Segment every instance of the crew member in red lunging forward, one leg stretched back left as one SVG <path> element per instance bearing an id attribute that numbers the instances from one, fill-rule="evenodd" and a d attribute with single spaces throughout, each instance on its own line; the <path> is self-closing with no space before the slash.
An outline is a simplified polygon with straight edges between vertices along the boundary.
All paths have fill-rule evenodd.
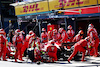
<path id="1" fill-rule="evenodd" d="M 73 53 L 70 55 L 70 57 L 68 58 L 68 62 L 70 63 L 70 60 L 77 54 L 77 52 L 82 52 L 82 59 L 81 61 L 85 61 L 85 52 L 86 52 L 86 48 L 88 49 L 88 43 L 89 43 L 89 37 L 86 37 L 85 39 L 82 39 L 80 41 L 78 41 L 77 43 L 75 43 L 74 45 L 74 50 Z"/>

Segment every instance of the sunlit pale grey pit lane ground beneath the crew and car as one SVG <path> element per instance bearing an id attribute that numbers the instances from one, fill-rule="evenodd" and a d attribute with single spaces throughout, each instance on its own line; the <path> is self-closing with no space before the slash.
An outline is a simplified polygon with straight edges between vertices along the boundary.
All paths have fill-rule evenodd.
<path id="1" fill-rule="evenodd" d="M 74 61 L 71 63 L 67 61 L 56 61 L 55 63 L 31 63 L 26 57 L 23 57 L 25 61 L 18 60 L 18 63 L 14 62 L 14 59 L 7 59 L 8 61 L 0 61 L 0 67 L 100 67 L 100 57 L 85 57 L 85 62 Z"/>

